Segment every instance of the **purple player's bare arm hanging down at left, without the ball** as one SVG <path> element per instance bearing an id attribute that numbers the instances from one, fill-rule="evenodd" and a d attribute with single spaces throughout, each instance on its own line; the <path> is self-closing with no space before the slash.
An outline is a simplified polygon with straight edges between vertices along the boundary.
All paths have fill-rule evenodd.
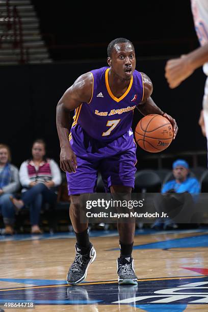
<path id="1" fill-rule="evenodd" d="M 71 124 L 70 111 L 79 107 L 82 102 L 90 101 L 92 87 L 92 74 L 89 72 L 83 74 L 66 90 L 57 105 L 56 123 L 61 147 L 60 167 L 65 172 L 75 172 L 77 167 L 76 155 L 68 139 Z"/>

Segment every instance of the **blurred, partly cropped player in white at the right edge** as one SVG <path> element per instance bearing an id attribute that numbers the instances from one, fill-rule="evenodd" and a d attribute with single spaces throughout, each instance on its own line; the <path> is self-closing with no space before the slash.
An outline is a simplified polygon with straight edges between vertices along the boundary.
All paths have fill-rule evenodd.
<path id="1" fill-rule="evenodd" d="M 202 65 L 204 73 L 208 75 L 208 0 L 191 0 L 191 8 L 201 47 L 167 62 L 165 76 L 171 89 L 179 86 L 195 69 Z M 208 144 L 208 79 L 206 79 L 204 88 L 203 118 Z"/>

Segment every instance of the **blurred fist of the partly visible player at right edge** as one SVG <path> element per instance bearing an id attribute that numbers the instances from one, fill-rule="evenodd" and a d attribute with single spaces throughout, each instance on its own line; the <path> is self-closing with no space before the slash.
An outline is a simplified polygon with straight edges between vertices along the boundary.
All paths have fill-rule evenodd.
<path id="1" fill-rule="evenodd" d="M 169 60 L 165 66 L 165 77 L 171 89 L 176 88 L 187 79 L 194 69 L 192 68 L 189 57 L 186 55 L 178 59 Z"/>

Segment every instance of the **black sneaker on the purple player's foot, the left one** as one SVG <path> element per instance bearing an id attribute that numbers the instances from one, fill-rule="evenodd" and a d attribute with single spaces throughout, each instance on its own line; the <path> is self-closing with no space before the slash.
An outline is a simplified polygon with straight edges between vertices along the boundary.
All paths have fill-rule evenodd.
<path id="1" fill-rule="evenodd" d="M 87 270 L 96 257 L 96 251 L 90 243 L 89 251 L 87 254 L 82 254 L 82 250 L 75 245 L 76 256 L 74 262 L 69 268 L 67 274 L 67 284 L 77 285 L 80 284 L 87 276 Z"/>

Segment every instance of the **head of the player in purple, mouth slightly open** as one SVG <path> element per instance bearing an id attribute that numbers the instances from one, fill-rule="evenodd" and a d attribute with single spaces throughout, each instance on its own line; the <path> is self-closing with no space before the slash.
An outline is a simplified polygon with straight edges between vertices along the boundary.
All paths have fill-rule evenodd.
<path id="1" fill-rule="evenodd" d="M 136 67 L 134 44 L 125 38 L 117 38 L 108 45 L 108 64 L 123 80 L 130 80 Z"/>

